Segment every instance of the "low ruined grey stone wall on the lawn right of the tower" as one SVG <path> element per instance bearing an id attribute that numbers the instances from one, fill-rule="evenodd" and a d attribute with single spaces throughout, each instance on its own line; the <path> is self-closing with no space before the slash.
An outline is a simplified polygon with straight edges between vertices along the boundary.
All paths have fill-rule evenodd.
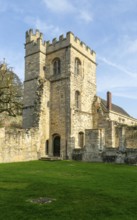
<path id="1" fill-rule="evenodd" d="M 74 149 L 72 159 L 137 164 L 137 128 L 121 127 L 117 132 L 119 146 L 107 147 L 103 129 L 87 129 L 85 131 L 85 147 Z"/>

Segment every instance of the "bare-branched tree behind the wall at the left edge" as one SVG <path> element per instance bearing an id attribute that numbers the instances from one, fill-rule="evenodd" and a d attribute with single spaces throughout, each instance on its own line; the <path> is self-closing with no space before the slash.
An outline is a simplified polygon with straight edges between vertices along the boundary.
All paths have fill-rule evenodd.
<path id="1" fill-rule="evenodd" d="M 10 116 L 20 115 L 22 97 L 21 80 L 5 62 L 0 63 L 0 113 L 7 112 Z"/>

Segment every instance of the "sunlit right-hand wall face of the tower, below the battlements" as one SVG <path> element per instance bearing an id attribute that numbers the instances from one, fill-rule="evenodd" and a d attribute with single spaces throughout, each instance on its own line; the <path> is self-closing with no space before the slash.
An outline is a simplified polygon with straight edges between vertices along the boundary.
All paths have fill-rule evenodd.
<path id="1" fill-rule="evenodd" d="M 95 59 L 84 56 L 83 50 L 71 48 L 71 136 L 75 137 L 75 148 L 79 147 L 78 134 L 93 127 L 92 103 L 96 94 L 96 63 Z M 75 59 L 81 62 L 79 74 L 75 73 Z M 80 93 L 80 107 L 75 106 L 75 92 Z"/>

